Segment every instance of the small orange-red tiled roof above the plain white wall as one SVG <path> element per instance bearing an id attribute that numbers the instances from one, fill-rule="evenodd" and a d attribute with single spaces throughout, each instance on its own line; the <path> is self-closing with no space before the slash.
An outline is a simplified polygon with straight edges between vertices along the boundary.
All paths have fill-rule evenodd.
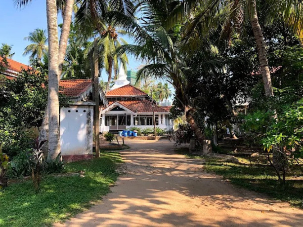
<path id="1" fill-rule="evenodd" d="M 66 96 L 78 97 L 91 85 L 91 79 L 67 79 L 60 80 L 60 92 Z"/>

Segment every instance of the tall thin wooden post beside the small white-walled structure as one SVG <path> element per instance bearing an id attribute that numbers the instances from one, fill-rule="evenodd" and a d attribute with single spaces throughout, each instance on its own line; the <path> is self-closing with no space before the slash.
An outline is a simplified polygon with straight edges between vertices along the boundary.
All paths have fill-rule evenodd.
<path id="1" fill-rule="evenodd" d="M 93 101 L 95 102 L 94 108 L 94 123 L 95 123 L 95 148 L 96 148 L 96 157 L 100 157 L 100 130 L 99 130 L 99 68 L 98 68 L 98 41 L 95 38 L 94 40 L 94 51 L 93 51 L 93 68 L 94 75 L 92 79 L 92 93 Z"/>

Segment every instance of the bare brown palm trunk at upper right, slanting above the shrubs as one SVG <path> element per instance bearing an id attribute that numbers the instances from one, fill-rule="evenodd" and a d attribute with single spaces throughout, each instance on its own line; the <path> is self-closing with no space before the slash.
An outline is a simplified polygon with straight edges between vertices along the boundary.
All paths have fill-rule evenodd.
<path id="1" fill-rule="evenodd" d="M 273 96 L 273 89 L 271 84 L 270 71 L 268 67 L 267 55 L 265 50 L 265 41 L 263 38 L 262 30 L 259 24 L 256 0 L 250 0 L 250 18 L 253 27 L 254 36 L 256 38 L 257 51 L 260 63 L 260 70 L 262 73 L 265 96 Z"/>

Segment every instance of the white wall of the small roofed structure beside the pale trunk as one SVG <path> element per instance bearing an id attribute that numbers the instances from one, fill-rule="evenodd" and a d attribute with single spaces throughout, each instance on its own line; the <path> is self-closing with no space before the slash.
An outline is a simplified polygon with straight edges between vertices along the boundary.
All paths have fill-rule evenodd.
<path id="1" fill-rule="evenodd" d="M 62 107 L 60 110 L 61 154 L 92 153 L 92 106 Z"/>

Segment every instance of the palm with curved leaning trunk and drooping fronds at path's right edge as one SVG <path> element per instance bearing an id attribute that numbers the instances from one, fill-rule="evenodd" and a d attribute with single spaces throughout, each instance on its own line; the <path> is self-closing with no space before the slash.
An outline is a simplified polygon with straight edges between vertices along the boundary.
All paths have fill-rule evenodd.
<path id="1" fill-rule="evenodd" d="M 137 72 L 137 80 L 152 76 L 166 79 L 174 86 L 176 98 L 184 108 L 186 121 L 202 144 L 205 136 L 194 120 L 194 109 L 185 92 L 187 82 L 182 72 L 185 63 L 181 58 L 183 54 L 177 48 L 177 34 L 166 26 L 166 18 L 174 10 L 175 3 L 170 0 L 147 2 L 141 5 L 142 17 L 137 22 L 124 17 L 123 26 L 133 31 L 136 44 L 122 45 L 117 52 L 131 53 L 147 63 Z"/>

